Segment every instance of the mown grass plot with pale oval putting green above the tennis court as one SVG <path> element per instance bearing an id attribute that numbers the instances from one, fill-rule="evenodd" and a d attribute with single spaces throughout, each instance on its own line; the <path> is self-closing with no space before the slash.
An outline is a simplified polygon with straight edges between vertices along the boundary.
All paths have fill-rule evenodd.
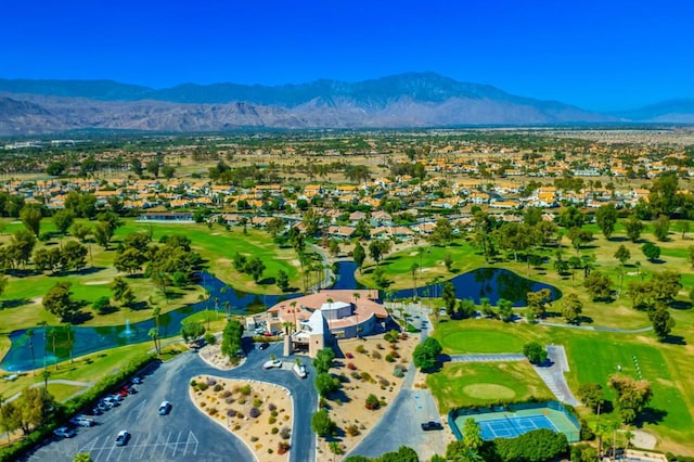
<path id="1" fill-rule="evenodd" d="M 441 413 L 465 406 L 552 398 L 527 362 L 447 363 L 426 383 Z"/>

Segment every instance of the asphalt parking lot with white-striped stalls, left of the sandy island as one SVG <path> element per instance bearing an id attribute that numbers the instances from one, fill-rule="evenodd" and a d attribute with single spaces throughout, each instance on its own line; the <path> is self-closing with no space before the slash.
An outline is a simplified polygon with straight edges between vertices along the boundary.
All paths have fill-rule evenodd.
<path id="1" fill-rule="evenodd" d="M 79 452 L 89 452 L 94 462 L 104 461 L 229 461 L 252 460 L 244 444 L 219 425 L 210 424 L 188 397 L 189 377 L 202 361 L 185 354 L 143 374 L 138 393 L 120 405 L 93 416 L 93 426 L 77 426 L 73 438 L 47 441 L 27 459 L 40 462 L 69 462 Z M 172 407 L 158 412 L 162 401 Z M 116 435 L 128 431 L 125 446 L 116 446 Z"/>

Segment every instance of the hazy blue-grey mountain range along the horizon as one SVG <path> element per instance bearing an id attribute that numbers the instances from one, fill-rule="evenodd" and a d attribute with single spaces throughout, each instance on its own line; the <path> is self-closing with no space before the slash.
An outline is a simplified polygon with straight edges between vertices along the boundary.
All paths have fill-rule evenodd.
<path id="1" fill-rule="evenodd" d="M 359 82 L 184 84 L 166 89 L 112 80 L 0 79 L 0 136 L 80 129 L 191 132 L 618 121 L 694 123 L 694 100 L 603 114 L 434 73 Z"/>

